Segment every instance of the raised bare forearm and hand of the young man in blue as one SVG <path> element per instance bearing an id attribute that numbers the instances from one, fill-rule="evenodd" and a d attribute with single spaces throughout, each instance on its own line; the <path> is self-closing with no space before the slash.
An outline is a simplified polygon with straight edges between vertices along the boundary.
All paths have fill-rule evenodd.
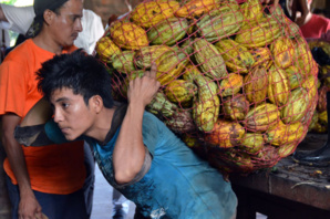
<path id="1" fill-rule="evenodd" d="M 161 84 L 156 81 L 156 65 L 143 77 L 130 82 L 128 106 L 113 153 L 117 184 L 130 182 L 140 173 L 145 159 L 142 122 L 145 106 L 153 100 Z"/>

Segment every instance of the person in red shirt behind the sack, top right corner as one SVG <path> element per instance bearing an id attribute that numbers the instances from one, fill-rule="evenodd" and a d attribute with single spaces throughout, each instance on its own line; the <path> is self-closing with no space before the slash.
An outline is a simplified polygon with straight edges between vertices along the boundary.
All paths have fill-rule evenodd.
<path id="1" fill-rule="evenodd" d="M 300 27 L 302 35 L 308 39 L 319 39 L 330 31 L 330 19 L 313 14 L 310 11 L 312 0 L 286 0 L 289 15 Z M 299 9 L 299 10 L 297 10 Z M 295 13 L 293 11 L 297 10 Z"/>

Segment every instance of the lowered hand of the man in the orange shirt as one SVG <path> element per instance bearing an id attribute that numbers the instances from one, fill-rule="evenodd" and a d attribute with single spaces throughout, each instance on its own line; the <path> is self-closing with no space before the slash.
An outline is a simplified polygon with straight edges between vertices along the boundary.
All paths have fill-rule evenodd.
<path id="1" fill-rule="evenodd" d="M 18 213 L 19 219 L 44 219 L 41 212 L 41 206 L 39 205 L 33 194 L 21 195 Z"/>

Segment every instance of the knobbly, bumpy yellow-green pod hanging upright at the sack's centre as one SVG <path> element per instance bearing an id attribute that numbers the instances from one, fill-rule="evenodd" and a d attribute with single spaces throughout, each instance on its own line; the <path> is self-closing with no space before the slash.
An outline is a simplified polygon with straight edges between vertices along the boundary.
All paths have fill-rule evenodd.
<path id="1" fill-rule="evenodd" d="M 193 102 L 193 118 L 199 131 L 209 132 L 213 129 L 219 115 L 218 87 L 215 82 L 208 81 L 200 74 L 194 75 L 194 77 L 198 86 L 198 93 L 197 100 Z"/>

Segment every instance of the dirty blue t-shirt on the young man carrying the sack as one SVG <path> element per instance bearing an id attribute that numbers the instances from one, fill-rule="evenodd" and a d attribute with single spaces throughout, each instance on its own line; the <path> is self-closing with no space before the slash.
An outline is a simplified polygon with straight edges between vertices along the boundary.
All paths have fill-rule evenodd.
<path id="1" fill-rule="evenodd" d="M 233 218 L 237 198 L 230 184 L 207 161 L 198 158 L 164 123 L 147 112 L 143 117 L 143 142 L 152 156 L 151 168 L 137 182 L 117 185 L 113 174 L 113 150 L 118 133 L 120 128 L 104 146 L 93 139 L 89 142 L 93 145 L 103 176 L 132 200 L 143 216 L 175 219 Z M 50 136 L 51 139 L 58 137 Z"/>

